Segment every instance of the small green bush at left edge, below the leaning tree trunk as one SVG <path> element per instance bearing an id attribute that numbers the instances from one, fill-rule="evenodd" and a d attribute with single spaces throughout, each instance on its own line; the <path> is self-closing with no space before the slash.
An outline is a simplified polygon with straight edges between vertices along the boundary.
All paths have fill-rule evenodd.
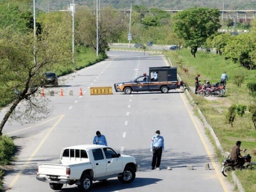
<path id="1" fill-rule="evenodd" d="M 0 164 L 7 165 L 12 160 L 15 145 L 13 140 L 6 135 L 0 137 Z"/>

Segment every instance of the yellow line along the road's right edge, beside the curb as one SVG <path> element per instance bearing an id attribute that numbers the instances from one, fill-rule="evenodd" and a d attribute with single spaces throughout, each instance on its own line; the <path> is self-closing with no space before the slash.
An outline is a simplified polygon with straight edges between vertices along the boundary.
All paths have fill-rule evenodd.
<path id="1" fill-rule="evenodd" d="M 218 179 L 219 179 L 219 181 L 220 181 L 220 184 L 221 184 L 222 187 L 223 187 L 224 192 L 229 192 L 229 190 L 228 190 L 228 188 L 226 187 L 225 182 L 224 182 L 224 180 L 223 180 L 223 175 L 220 174 L 220 170 L 219 170 L 217 164 L 215 163 L 213 157 L 211 156 L 210 149 L 209 149 L 209 147 L 207 146 L 207 144 L 206 144 L 206 142 L 205 142 L 205 140 L 204 140 L 204 136 L 202 135 L 201 131 L 199 130 L 199 128 L 198 128 L 198 126 L 197 126 L 197 123 L 196 123 L 196 121 L 195 121 L 193 115 L 191 114 L 190 109 L 189 109 L 189 107 L 187 106 L 187 103 L 185 102 L 184 96 L 183 96 L 181 93 L 180 93 L 180 97 L 181 97 L 181 99 L 183 100 L 183 103 L 185 104 L 185 107 L 186 107 L 186 109 L 187 109 L 187 112 L 188 112 L 188 114 L 190 115 L 190 118 L 191 118 L 191 120 L 192 120 L 192 122 L 193 122 L 193 124 L 194 124 L 194 127 L 196 128 L 197 133 L 198 133 L 198 135 L 199 135 L 199 137 L 200 137 L 200 139 L 201 139 L 201 142 L 203 143 L 204 148 L 205 148 L 205 150 L 206 150 L 206 152 L 207 152 L 207 154 L 208 154 L 208 156 L 209 156 L 209 158 L 210 158 L 210 160 L 211 160 L 211 163 L 213 164 L 213 168 L 214 168 L 214 170 L 215 170 L 215 172 L 216 172 L 216 174 L 217 174 L 217 176 L 218 176 Z"/>

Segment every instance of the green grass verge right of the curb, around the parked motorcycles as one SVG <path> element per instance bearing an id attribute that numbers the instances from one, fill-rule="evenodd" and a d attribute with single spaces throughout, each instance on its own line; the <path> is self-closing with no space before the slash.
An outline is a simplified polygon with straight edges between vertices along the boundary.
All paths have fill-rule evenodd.
<path id="1" fill-rule="evenodd" d="M 247 152 L 252 156 L 252 161 L 255 162 L 256 130 L 251 121 L 251 114 L 246 111 L 243 117 L 237 117 L 233 127 L 226 123 L 225 114 L 231 104 L 248 106 L 256 103 L 255 98 L 249 95 L 246 86 L 248 82 L 255 81 L 256 71 L 247 70 L 240 67 L 239 64 L 234 64 L 231 60 L 225 60 L 223 56 L 214 53 L 197 52 L 196 58 L 193 58 L 190 50 L 180 50 L 165 52 L 165 55 L 171 58 L 173 65 L 178 66 L 178 73 L 189 86 L 194 86 L 194 78 L 197 73 L 200 73 L 200 80 L 217 83 L 220 81 L 223 71 L 226 71 L 230 80 L 226 85 L 228 92 L 225 97 L 214 101 L 206 100 L 204 97 L 194 94 L 192 94 L 192 97 L 197 102 L 208 123 L 213 127 L 224 151 L 231 152 L 235 142 L 241 140 L 242 149 L 247 149 Z M 241 88 L 233 84 L 234 76 L 238 74 L 245 76 Z M 221 159 L 220 154 L 217 154 Z M 236 174 L 246 192 L 256 191 L 256 171 L 237 171 Z"/>

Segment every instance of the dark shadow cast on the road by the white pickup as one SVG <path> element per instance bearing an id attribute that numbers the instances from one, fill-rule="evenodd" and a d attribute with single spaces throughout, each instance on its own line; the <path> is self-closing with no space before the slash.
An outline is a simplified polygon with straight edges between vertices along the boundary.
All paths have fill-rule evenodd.
<path id="1" fill-rule="evenodd" d="M 158 178 L 135 178 L 132 183 L 123 184 L 120 183 L 117 179 L 107 180 L 106 182 L 95 182 L 92 184 L 92 190 L 94 192 L 113 192 L 124 189 L 131 189 L 137 187 L 143 187 L 146 185 L 152 185 L 156 182 L 161 181 L 162 179 Z M 59 192 L 78 192 L 77 187 L 63 188 Z"/>

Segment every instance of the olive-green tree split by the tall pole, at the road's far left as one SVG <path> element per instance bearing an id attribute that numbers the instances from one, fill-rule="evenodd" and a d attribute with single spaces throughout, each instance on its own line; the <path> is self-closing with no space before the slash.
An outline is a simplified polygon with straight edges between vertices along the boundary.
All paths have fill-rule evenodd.
<path id="1" fill-rule="evenodd" d="M 80 45 L 88 45 L 96 50 L 96 17 L 93 10 L 86 7 L 78 7 L 76 11 L 76 42 Z M 116 36 L 120 36 L 125 24 L 121 12 L 113 11 L 111 7 L 106 7 L 100 12 L 99 21 L 99 52 L 105 54 L 108 43 Z"/>

